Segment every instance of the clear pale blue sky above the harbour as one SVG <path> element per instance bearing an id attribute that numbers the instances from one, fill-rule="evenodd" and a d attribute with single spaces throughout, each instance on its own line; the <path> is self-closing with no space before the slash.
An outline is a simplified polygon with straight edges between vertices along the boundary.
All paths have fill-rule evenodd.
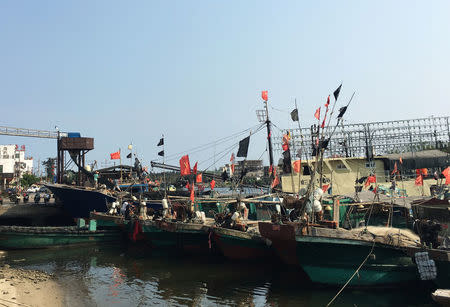
<path id="1" fill-rule="evenodd" d="M 167 163 L 188 153 L 211 169 L 252 127 L 248 158 L 268 160 L 262 90 L 280 129 L 297 126 L 295 99 L 301 126 L 314 123 L 341 83 L 337 107 L 356 92 L 347 123 L 448 116 L 448 12 L 449 1 L 1 1 L 0 126 L 93 137 L 98 167 L 130 143 L 148 165 L 164 135 Z M 55 140 L 0 144 L 56 157 Z"/>

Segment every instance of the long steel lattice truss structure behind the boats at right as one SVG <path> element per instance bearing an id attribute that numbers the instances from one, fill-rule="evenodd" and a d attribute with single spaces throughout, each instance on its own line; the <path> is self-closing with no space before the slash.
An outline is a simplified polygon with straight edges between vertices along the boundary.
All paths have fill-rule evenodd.
<path id="1" fill-rule="evenodd" d="M 335 127 L 325 127 L 329 138 Z M 291 150 L 296 158 L 309 159 L 317 142 L 317 126 L 291 131 Z M 322 132 L 321 136 L 322 137 Z M 339 125 L 325 151 L 325 157 L 372 157 L 390 153 L 446 148 L 450 144 L 449 117 Z M 274 150 L 282 151 L 282 135 L 275 135 Z M 292 153 L 291 153 L 292 154 Z M 292 154 L 292 157 L 294 155 Z"/>

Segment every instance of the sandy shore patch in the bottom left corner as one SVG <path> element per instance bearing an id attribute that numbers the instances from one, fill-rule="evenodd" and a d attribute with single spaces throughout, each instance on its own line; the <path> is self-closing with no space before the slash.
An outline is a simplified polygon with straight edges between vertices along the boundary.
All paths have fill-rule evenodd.
<path id="1" fill-rule="evenodd" d="M 64 292 L 53 275 L 8 264 L 0 267 L 0 294 L 5 306 L 64 306 Z"/>

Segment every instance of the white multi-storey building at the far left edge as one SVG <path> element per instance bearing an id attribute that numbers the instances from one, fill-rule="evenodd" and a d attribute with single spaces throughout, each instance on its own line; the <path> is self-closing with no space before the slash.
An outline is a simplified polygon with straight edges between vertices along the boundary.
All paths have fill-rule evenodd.
<path id="1" fill-rule="evenodd" d="M 25 157 L 25 146 L 0 145 L 0 179 L 6 186 L 14 178 L 33 172 L 33 158 Z"/>

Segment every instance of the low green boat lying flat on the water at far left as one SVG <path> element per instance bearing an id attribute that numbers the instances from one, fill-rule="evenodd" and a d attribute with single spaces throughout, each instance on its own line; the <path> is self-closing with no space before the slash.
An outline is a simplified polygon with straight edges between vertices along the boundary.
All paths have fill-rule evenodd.
<path id="1" fill-rule="evenodd" d="M 0 248 L 32 249 L 57 246 L 119 242 L 120 230 L 89 230 L 77 226 L 0 226 Z"/>

